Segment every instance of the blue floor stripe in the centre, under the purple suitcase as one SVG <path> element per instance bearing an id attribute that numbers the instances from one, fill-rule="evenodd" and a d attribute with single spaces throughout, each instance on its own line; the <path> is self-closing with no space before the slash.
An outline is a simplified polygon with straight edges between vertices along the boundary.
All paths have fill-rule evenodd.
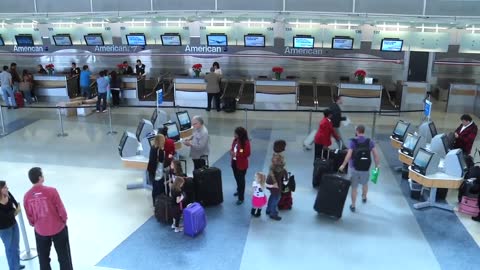
<path id="1" fill-rule="evenodd" d="M 174 233 L 154 217 L 148 219 L 98 266 L 119 269 L 239 269 L 250 225 L 249 187 L 253 175 L 263 170 L 271 129 L 252 130 L 255 139 L 247 173 L 245 203 L 236 206 L 235 180 L 230 167 L 230 153 L 213 166 L 222 170 L 224 202 L 209 207 L 207 228 L 196 238 Z M 212 146 L 213 147 L 213 146 Z"/>

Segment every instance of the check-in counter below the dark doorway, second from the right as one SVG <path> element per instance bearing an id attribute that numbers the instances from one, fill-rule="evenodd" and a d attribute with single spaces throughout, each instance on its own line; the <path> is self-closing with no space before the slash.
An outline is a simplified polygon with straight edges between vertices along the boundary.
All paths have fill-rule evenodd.
<path id="1" fill-rule="evenodd" d="M 423 110 L 428 89 L 426 82 L 406 82 L 403 85 L 401 110 Z"/>

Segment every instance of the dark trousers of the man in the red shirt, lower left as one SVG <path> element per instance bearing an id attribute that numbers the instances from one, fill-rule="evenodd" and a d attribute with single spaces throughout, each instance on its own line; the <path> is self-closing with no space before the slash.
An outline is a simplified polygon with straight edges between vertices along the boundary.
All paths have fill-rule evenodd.
<path id="1" fill-rule="evenodd" d="M 42 236 L 35 232 L 35 240 L 37 242 L 40 270 L 52 269 L 50 267 L 50 249 L 52 248 L 52 242 L 55 246 L 55 251 L 57 252 L 60 270 L 73 270 L 67 226 L 65 226 L 65 228 L 59 233 L 52 236 Z"/>

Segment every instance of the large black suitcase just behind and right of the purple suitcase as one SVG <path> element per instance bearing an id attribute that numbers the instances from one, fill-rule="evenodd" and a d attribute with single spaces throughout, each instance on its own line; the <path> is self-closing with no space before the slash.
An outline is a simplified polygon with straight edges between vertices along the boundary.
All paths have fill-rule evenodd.
<path id="1" fill-rule="evenodd" d="M 209 167 L 193 171 L 195 199 L 203 206 L 217 205 L 223 202 L 222 171 Z"/>

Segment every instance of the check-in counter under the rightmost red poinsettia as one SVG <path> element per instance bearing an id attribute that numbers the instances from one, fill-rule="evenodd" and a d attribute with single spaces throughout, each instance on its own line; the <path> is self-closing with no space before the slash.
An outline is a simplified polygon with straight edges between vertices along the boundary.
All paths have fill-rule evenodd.
<path id="1" fill-rule="evenodd" d="M 343 98 L 343 110 L 380 110 L 382 103 L 380 84 L 339 83 L 338 95 Z"/>

